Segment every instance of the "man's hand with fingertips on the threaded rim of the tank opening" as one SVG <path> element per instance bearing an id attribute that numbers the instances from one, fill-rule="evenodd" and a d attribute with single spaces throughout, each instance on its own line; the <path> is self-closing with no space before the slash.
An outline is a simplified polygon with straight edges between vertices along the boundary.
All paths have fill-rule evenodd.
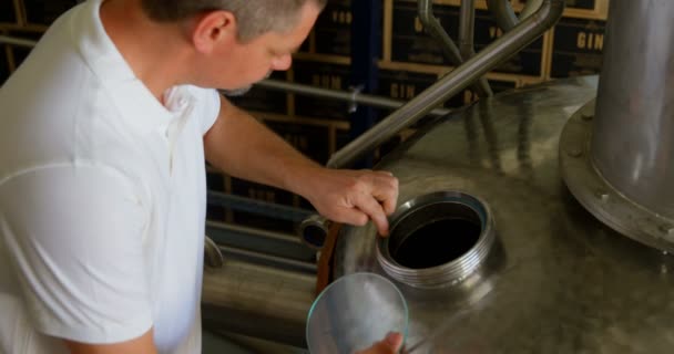
<path id="1" fill-rule="evenodd" d="M 381 170 L 314 169 L 304 196 L 324 217 L 356 226 L 372 220 L 388 236 L 387 216 L 396 210 L 398 179 Z"/>

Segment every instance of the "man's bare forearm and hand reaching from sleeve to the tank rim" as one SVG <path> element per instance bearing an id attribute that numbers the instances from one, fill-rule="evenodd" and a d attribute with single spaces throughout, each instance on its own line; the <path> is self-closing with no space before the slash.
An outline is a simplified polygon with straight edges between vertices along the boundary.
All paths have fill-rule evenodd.
<path id="1" fill-rule="evenodd" d="M 398 180 L 390 173 L 325 168 L 225 97 L 204 148 L 206 159 L 232 176 L 300 195 L 337 222 L 361 226 L 371 219 L 381 235 L 388 233 L 386 216 L 398 198 Z"/>

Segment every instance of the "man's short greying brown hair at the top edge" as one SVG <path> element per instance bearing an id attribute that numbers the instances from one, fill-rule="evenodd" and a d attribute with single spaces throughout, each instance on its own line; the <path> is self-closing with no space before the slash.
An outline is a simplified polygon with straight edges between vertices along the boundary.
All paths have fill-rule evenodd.
<path id="1" fill-rule="evenodd" d="M 237 21 L 238 39 L 244 42 L 269 31 L 290 30 L 308 2 L 323 9 L 327 0 L 142 0 L 145 13 L 157 22 L 186 20 L 205 11 L 229 11 Z"/>

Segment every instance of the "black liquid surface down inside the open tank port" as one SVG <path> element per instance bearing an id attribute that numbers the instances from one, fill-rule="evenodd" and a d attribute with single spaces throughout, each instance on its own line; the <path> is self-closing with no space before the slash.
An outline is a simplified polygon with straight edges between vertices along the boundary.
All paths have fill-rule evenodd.
<path id="1" fill-rule="evenodd" d="M 400 266 L 421 269 L 448 263 L 470 250 L 480 226 L 466 219 L 443 219 L 425 225 L 390 250 Z"/>

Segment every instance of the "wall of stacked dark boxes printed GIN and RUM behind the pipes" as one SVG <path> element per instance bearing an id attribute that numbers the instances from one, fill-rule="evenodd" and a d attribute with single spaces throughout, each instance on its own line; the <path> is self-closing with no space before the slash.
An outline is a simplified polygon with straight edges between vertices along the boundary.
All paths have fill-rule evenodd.
<path id="1" fill-rule="evenodd" d="M 288 72 L 275 73 L 274 79 L 315 86 L 348 91 L 351 87 L 351 1 L 329 0 L 316 28 L 297 53 Z M 360 0 L 362 1 L 362 0 Z M 524 0 L 511 0 L 515 10 Z M 566 0 L 560 22 L 525 50 L 487 74 L 494 92 L 522 87 L 553 79 L 599 73 L 609 0 Z M 39 39 L 62 12 L 78 0 L 0 0 L 0 33 Z M 436 0 L 436 17 L 452 39 L 458 38 L 460 0 Z M 410 100 L 438 77 L 451 71 L 438 44 L 425 32 L 417 18 L 413 0 L 382 0 L 381 27 L 377 37 L 377 87 L 375 93 L 397 100 Z M 501 35 L 496 22 L 486 11 L 484 0 L 477 1 L 476 51 Z M 29 50 L 0 45 L 0 83 L 28 55 Z M 459 107 L 474 100 L 470 91 L 446 103 Z M 349 137 L 351 121 L 348 104 L 289 93 L 253 88 L 247 95 L 233 98 L 249 110 L 272 129 L 299 150 L 324 164 Z M 376 112 L 386 117 L 389 112 Z M 388 144 L 392 148 L 411 133 L 410 129 Z M 212 190 L 257 200 L 309 209 L 300 197 L 257 184 L 252 184 L 208 169 Z M 294 232 L 295 225 L 266 216 L 232 209 L 210 207 L 210 218 L 256 228 Z"/>

